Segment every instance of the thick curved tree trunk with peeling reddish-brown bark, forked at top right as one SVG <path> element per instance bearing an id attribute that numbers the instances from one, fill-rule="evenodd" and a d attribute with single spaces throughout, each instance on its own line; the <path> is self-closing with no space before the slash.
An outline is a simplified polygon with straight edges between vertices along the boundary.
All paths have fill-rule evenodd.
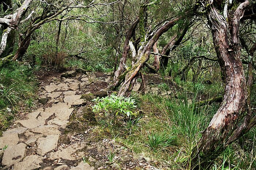
<path id="1" fill-rule="evenodd" d="M 234 17 L 229 19 L 221 15 L 215 8 L 214 2 L 208 5 L 207 18 L 212 29 L 212 38 L 225 78 L 225 92 L 223 102 L 217 113 L 212 118 L 209 126 L 203 132 L 202 138 L 193 149 L 190 157 L 191 165 L 188 168 L 203 169 L 209 168 L 212 161 L 226 147 L 226 142 L 236 129 L 237 123 L 241 119 L 241 112 L 244 109 L 247 88 L 245 75 L 240 60 L 241 44 L 239 41 L 240 19 L 244 15 L 244 10 L 249 4 L 248 0 L 241 3 Z M 191 163 L 191 164 L 190 164 Z"/>

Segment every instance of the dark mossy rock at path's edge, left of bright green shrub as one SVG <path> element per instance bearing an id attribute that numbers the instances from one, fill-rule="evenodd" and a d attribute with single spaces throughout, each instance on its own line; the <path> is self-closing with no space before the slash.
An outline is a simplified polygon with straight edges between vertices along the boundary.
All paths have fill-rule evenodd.
<path id="1" fill-rule="evenodd" d="M 80 107 L 79 110 L 76 112 L 76 117 L 82 118 L 83 120 L 87 120 L 87 122 L 90 124 L 97 124 L 94 112 L 90 106 Z"/>

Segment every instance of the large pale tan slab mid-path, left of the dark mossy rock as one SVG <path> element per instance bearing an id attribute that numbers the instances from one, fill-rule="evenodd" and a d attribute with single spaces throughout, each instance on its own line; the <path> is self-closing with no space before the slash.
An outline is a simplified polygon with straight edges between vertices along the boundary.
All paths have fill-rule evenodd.
<path id="1" fill-rule="evenodd" d="M 56 118 L 60 120 L 68 120 L 73 110 L 73 108 L 69 108 L 67 103 L 57 103 L 53 104 L 52 107 L 45 108 L 46 112 L 54 113 Z"/>

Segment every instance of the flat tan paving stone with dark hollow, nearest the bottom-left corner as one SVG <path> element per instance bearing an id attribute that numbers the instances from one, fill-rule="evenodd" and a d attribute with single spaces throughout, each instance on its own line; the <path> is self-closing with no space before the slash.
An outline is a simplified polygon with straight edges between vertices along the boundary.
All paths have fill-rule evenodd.
<path id="1" fill-rule="evenodd" d="M 8 146 L 7 149 L 4 150 L 2 165 L 11 166 L 14 163 L 18 163 L 26 156 L 26 147 L 27 145 L 25 143 Z"/>

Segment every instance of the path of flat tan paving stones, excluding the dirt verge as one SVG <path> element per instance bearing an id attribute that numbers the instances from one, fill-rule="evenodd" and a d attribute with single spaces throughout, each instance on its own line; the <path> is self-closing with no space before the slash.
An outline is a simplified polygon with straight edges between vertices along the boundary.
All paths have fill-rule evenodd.
<path id="1" fill-rule="evenodd" d="M 48 161 L 82 159 L 83 152 L 79 150 L 86 146 L 85 142 L 57 148 L 60 135 L 69 123 L 74 107 L 85 104 L 85 99 L 80 99 L 81 95 L 78 95 L 81 88 L 91 83 L 89 76 L 82 74 L 79 81 L 76 75 L 77 72 L 67 72 L 62 75 L 65 78 L 57 79 L 48 86 L 42 87 L 44 90 L 40 101 L 49 104 L 49 107 L 41 107 L 29 113 L 27 119 L 15 122 L 16 128 L 3 133 L 3 137 L 0 138 L 0 169 L 30 170 L 42 167 L 46 159 Z M 31 149 L 34 150 L 33 155 L 29 152 Z M 71 167 L 62 162 L 44 169 L 94 169 L 83 161 Z"/>

